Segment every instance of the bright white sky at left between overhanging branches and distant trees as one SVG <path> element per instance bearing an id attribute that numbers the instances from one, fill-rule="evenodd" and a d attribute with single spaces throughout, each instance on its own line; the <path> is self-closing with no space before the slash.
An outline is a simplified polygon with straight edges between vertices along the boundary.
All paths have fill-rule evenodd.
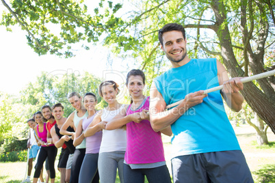
<path id="1" fill-rule="evenodd" d="M 4 10 L 0 4 L 0 13 Z M 125 64 L 122 59 L 113 57 L 113 64 L 108 64 L 107 48 L 100 44 L 90 45 L 90 50 L 79 50 L 76 56 L 64 59 L 55 55 L 38 56 L 27 45 L 27 34 L 20 27 L 12 27 L 8 32 L 0 26 L 0 91 L 8 94 L 18 94 L 29 82 L 36 81 L 41 72 L 49 74 L 66 74 L 90 72 L 103 80 L 116 79 L 117 83 L 125 82 Z M 130 65 L 131 63 L 127 63 Z M 123 66 L 122 66 L 123 65 Z M 112 72 L 112 74 L 111 74 Z"/>

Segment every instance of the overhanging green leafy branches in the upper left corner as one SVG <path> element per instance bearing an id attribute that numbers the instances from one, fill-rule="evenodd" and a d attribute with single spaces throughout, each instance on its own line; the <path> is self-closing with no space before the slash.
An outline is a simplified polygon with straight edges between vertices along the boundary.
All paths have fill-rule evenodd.
<path id="1" fill-rule="evenodd" d="M 96 42 L 104 31 L 99 23 L 101 17 L 90 16 L 87 6 L 77 1 L 1 2 L 7 10 L 2 14 L 1 25 L 8 31 L 12 31 L 11 26 L 19 25 L 27 33 L 27 44 L 38 55 L 51 53 L 72 57 L 73 44 L 83 40 Z M 89 49 L 84 45 L 83 48 Z"/>

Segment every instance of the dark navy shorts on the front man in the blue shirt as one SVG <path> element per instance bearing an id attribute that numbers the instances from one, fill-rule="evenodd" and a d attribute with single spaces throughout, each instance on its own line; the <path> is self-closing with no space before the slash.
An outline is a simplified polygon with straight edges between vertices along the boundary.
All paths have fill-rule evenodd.
<path id="1" fill-rule="evenodd" d="M 174 183 L 254 182 L 240 150 L 177 156 L 172 173 Z"/>

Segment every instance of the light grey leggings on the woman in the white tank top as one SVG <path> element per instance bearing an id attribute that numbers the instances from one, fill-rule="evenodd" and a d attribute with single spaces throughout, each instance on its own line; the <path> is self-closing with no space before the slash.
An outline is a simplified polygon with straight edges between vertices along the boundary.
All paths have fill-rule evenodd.
<path id="1" fill-rule="evenodd" d="M 99 178 L 101 183 L 116 182 L 116 169 L 120 182 L 124 183 L 123 179 L 123 162 L 125 151 L 116 152 L 101 152 L 99 154 Z"/>

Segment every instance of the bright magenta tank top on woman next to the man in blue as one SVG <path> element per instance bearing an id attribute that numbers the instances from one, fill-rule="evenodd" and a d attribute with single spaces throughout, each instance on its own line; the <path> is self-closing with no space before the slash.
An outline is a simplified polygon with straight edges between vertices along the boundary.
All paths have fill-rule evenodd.
<path id="1" fill-rule="evenodd" d="M 142 109 L 149 109 L 149 97 L 140 109 L 131 110 L 131 104 L 127 109 L 127 115 L 139 113 Z M 127 148 L 125 152 L 127 164 L 157 163 L 165 161 L 161 132 L 155 132 L 148 120 L 142 120 L 139 124 L 129 122 L 127 124 Z"/>

